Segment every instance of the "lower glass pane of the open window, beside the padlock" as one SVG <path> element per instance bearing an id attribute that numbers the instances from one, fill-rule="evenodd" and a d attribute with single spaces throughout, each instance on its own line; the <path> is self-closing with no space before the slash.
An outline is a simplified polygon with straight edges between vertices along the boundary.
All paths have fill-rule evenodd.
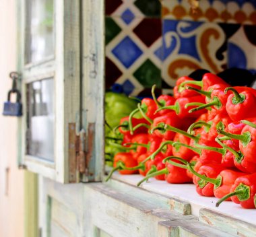
<path id="1" fill-rule="evenodd" d="M 53 78 L 27 84 L 27 154 L 54 161 Z"/>

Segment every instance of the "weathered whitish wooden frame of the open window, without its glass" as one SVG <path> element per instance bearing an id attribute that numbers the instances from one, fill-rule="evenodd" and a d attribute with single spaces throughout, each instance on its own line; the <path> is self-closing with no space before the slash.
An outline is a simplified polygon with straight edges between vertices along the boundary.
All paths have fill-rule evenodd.
<path id="1" fill-rule="evenodd" d="M 26 0 L 18 6 L 18 71 L 22 72 L 23 113 L 19 119 L 19 157 L 22 167 L 58 182 L 70 182 L 69 124 L 81 127 L 81 73 L 80 73 L 80 1 L 55 3 L 55 55 L 44 61 L 24 65 Z M 54 162 L 47 162 L 26 154 L 26 83 L 53 77 L 55 81 L 55 148 Z"/>

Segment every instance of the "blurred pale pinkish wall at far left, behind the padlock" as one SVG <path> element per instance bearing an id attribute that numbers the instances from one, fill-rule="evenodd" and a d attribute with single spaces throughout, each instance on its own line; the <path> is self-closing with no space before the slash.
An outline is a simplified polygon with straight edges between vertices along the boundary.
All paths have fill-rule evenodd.
<path id="1" fill-rule="evenodd" d="M 24 172 L 17 166 L 17 119 L 2 116 L 16 70 L 15 0 L 0 1 L 0 236 L 24 236 Z M 14 98 L 15 99 L 15 98 Z"/>

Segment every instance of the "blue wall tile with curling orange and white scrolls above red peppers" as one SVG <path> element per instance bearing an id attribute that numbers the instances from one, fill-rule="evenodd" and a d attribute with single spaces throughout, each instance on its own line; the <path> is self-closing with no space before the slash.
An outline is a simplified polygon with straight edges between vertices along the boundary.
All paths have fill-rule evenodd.
<path id="1" fill-rule="evenodd" d="M 195 69 L 218 73 L 226 68 L 227 38 L 237 28 L 228 30 L 224 25 L 164 20 L 162 78 L 169 86 Z"/>

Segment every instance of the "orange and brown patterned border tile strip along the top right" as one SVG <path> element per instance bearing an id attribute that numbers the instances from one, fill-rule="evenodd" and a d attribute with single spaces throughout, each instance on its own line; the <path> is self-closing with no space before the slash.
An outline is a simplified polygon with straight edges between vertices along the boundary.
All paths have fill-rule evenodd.
<path id="1" fill-rule="evenodd" d="M 187 0 L 162 0 L 162 17 L 173 20 L 256 24 L 255 9 L 255 0 L 203 0 L 192 13 Z"/>

